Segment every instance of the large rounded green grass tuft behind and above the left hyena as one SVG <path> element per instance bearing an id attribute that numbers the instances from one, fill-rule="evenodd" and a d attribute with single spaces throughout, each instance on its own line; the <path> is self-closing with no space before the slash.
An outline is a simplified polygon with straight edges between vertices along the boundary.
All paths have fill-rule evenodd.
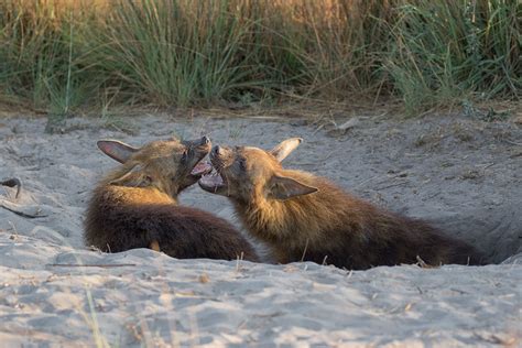
<path id="1" fill-rule="evenodd" d="M 241 44 L 249 26 L 227 13 L 227 1 L 143 0 L 117 7 L 88 36 L 93 63 L 141 101 L 205 105 L 243 87 L 250 68 Z"/>

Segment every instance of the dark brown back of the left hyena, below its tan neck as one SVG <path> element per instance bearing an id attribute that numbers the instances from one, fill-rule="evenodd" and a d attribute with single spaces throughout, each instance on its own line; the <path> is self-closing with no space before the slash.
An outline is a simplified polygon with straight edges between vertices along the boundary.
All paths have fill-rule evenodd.
<path id="1" fill-rule="evenodd" d="M 91 205 L 90 209 L 104 209 Z M 120 252 L 148 248 L 157 241 L 161 251 L 178 259 L 258 261 L 251 244 L 226 220 L 206 211 L 172 204 L 122 205 L 89 211 L 87 244 Z"/>

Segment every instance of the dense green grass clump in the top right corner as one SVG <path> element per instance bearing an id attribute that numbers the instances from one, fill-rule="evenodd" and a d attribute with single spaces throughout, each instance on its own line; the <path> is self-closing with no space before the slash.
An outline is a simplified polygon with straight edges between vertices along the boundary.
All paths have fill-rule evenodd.
<path id="1" fill-rule="evenodd" d="M 516 1 L 502 0 L 399 7 L 384 66 L 406 110 L 519 98 L 521 15 Z"/>

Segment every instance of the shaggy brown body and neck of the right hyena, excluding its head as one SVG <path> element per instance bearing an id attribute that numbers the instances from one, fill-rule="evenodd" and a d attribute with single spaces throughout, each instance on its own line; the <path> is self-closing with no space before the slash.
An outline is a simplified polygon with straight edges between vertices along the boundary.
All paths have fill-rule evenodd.
<path id="1" fill-rule="evenodd" d="M 271 209 L 251 207 L 251 211 L 265 210 L 270 215 L 246 214 L 236 206 L 254 236 L 265 240 L 273 237 L 267 241 L 281 263 L 304 260 L 360 270 L 422 261 L 431 265 L 483 262 L 474 247 L 425 221 L 378 208 L 327 180 L 295 176 L 319 191 Z"/>

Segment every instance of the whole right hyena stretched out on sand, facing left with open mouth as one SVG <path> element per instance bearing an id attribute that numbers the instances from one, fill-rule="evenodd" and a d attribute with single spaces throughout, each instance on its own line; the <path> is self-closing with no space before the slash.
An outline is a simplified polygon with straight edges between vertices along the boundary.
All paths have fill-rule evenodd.
<path id="1" fill-rule="evenodd" d="M 271 151 L 214 146 L 210 161 L 217 173 L 199 180 L 205 191 L 231 199 L 246 228 L 278 262 L 347 269 L 481 262 L 472 247 L 424 221 L 378 208 L 326 178 L 283 168 L 281 161 L 301 141 L 289 139 Z"/>

